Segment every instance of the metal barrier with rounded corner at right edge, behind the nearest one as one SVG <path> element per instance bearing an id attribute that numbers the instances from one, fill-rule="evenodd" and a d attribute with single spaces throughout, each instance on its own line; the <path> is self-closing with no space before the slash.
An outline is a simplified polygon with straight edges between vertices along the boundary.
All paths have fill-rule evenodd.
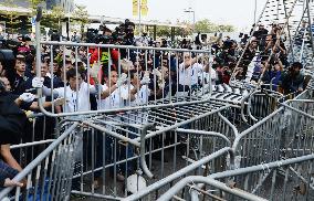
<path id="1" fill-rule="evenodd" d="M 306 113 L 312 114 L 312 106 L 303 107 L 306 112 L 300 113 L 284 104 L 285 108 L 281 107 L 241 133 L 232 146 L 236 156 L 241 158 L 240 167 L 311 152 L 314 121 Z"/>

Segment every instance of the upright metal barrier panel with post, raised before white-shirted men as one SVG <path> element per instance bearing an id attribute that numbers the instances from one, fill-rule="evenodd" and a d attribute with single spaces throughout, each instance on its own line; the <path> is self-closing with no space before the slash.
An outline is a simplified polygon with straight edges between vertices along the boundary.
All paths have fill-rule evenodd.
<path id="1" fill-rule="evenodd" d="M 40 19 L 36 21 L 36 35 L 40 35 Z M 70 43 L 70 42 L 48 42 L 36 38 L 36 76 L 41 77 L 41 47 L 45 45 L 50 50 L 51 77 L 54 77 L 53 61 L 54 50 L 61 51 L 59 54 L 63 64 L 61 77 L 63 86 L 54 88 L 38 88 L 39 106 L 43 114 L 52 117 L 88 115 L 100 113 L 113 113 L 132 109 L 148 109 L 156 107 L 168 107 L 185 105 L 187 103 L 201 103 L 202 96 L 211 92 L 211 70 L 210 51 L 184 50 L 184 49 L 158 49 L 139 47 L 112 44 L 92 43 Z M 87 53 L 78 54 L 78 49 L 83 47 Z M 115 52 L 115 53 L 113 53 Z M 86 56 L 86 67 L 82 67 L 80 57 Z M 73 60 L 73 64 L 71 64 Z M 100 72 L 94 82 L 100 84 L 91 85 L 91 75 L 94 63 L 102 63 Z M 70 64 L 67 63 L 70 61 Z M 74 68 L 75 73 L 71 77 L 74 84 L 70 84 L 66 77 L 69 68 Z M 86 68 L 82 73 L 82 68 Z M 115 72 L 113 72 L 115 71 Z M 213 71 L 213 70 L 212 70 Z M 126 78 L 124 76 L 126 74 Z M 85 75 L 85 76 L 84 76 Z M 114 83 L 114 78 L 119 83 Z M 123 78 L 124 77 L 124 78 Z M 146 77 L 145 83 L 143 78 Z M 147 77 L 150 80 L 147 81 Z M 104 84 L 105 83 L 105 84 Z M 118 84 L 116 89 L 113 87 Z M 102 86 L 100 86 L 102 85 Z M 80 89 L 75 89 L 80 88 Z M 105 88 L 108 88 L 107 91 Z M 201 88 L 201 89 L 200 89 Z M 200 91 L 200 93 L 193 93 Z M 105 94 L 114 96 L 116 102 L 104 104 Z M 64 97 L 66 104 L 62 113 L 56 113 L 54 104 L 52 112 L 43 108 L 43 95 Z M 90 96 L 97 99 L 97 109 L 91 107 Z M 135 96 L 135 97 L 133 97 Z M 107 96 L 108 97 L 108 96 Z M 111 97 L 113 98 L 113 97 Z M 115 99 L 112 99 L 114 102 Z M 166 103 L 167 102 L 167 103 Z M 118 104 L 116 106 L 114 104 Z"/>

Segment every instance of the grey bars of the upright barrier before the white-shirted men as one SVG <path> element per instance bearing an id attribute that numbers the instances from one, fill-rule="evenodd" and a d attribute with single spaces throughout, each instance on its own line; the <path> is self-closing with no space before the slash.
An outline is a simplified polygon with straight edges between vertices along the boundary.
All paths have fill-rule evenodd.
<path id="1" fill-rule="evenodd" d="M 83 83 L 81 84 L 80 87 L 83 87 L 83 85 L 86 85 L 84 87 L 86 87 L 86 94 L 84 94 L 84 97 L 88 97 L 90 95 L 94 95 L 94 96 L 97 96 L 97 103 L 98 103 L 98 107 L 97 107 L 97 110 L 92 110 L 91 109 L 91 105 L 90 103 L 87 102 L 86 104 L 88 106 L 86 106 L 86 109 L 81 109 L 83 106 L 80 105 L 80 100 L 83 102 L 83 99 L 81 99 L 81 94 L 78 94 L 78 91 L 76 91 L 74 94 L 80 97 L 80 98 L 76 98 L 75 99 L 75 103 L 74 103 L 74 109 L 73 112 L 72 110 L 66 110 L 66 107 L 64 108 L 63 113 L 59 113 L 56 114 L 54 110 L 52 112 L 46 112 L 43 106 L 42 106 L 42 102 L 41 102 L 41 98 L 40 98 L 40 108 L 41 108 L 41 112 L 44 113 L 45 115 L 48 116 L 73 116 L 73 115 L 88 115 L 88 114 L 100 114 L 100 113 L 112 113 L 112 112 L 119 112 L 119 110 L 132 110 L 132 109 L 142 109 L 142 108 L 154 108 L 154 107 L 167 107 L 167 106 L 172 106 L 172 105 L 182 105 L 182 104 L 186 104 L 186 103 L 200 103 L 202 100 L 202 96 L 205 95 L 206 92 L 210 92 L 210 87 L 211 85 L 205 85 L 207 84 L 207 81 L 206 81 L 206 77 L 202 76 L 201 81 L 199 81 L 199 76 L 196 75 L 196 77 L 192 77 L 193 73 L 198 74 L 198 73 L 205 73 L 203 70 L 199 70 L 198 67 L 195 67 L 196 65 L 197 66 L 201 66 L 201 68 L 206 68 L 206 65 L 209 64 L 209 52 L 206 52 L 206 51 L 189 51 L 189 50 L 180 50 L 180 49 L 155 49 L 155 47 L 136 47 L 136 46 L 119 46 L 119 45 L 106 45 L 106 44 L 90 44 L 90 43 L 66 43 L 66 42 L 41 42 L 40 43 L 41 45 L 42 44 L 45 44 L 45 45 L 49 45 L 51 46 L 51 49 L 53 49 L 53 46 L 62 46 L 64 50 L 66 47 L 70 47 L 70 49 L 75 49 L 75 71 L 76 71 L 76 74 L 75 74 L 75 77 L 76 77 L 76 87 L 78 88 L 78 73 L 80 73 L 80 68 L 77 66 L 77 60 L 78 60 L 78 55 L 77 55 L 77 49 L 78 46 L 83 46 L 83 47 L 86 47 L 87 51 L 90 47 L 96 47 L 98 52 L 101 52 L 102 49 L 105 49 L 107 50 L 108 52 L 111 52 L 112 50 L 118 50 L 118 52 L 122 52 L 122 51 L 126 51 L 128 52 L 127 55 L 125 55 L 125 57 L 121 57 L 122 55 L 118 54 L 118 61 L 117 61 L 117 66 L 113 66 L 112 64 L 112 61 L 111 61 L 111 57 L 109 57 L 109 54 L 108 54 L 108 63 L 105 65 L 103 64 L 103 70 L 104 71 L 107 71 L 107 74 L 103 74 L 102 78 L 103 80 L 104 77 L 111 77 L 112 76 L 112 71 L 116 71 L 117 72 L 117 77 L 119 78 L 122 76 L 123 73 L 127 74 L 128 75 L 128 78 L 127 78 L 127 83 L 123 84 L 122 87 L 118 88 L 118 95 L 119 95 L 119 98 L 123 99 L 126 105 L 122 108 L 122 107 L 118 107 L 118 108 L 115 108 L 114 106 L 111 106 L 111 107 L 107 107 L 107 108 L 103 108 L 102 106 L 100 106 L 101 102 L 102 102 L 102 97 L 101 97 L 101 94 L 100 93 L 96 93 L 95 91 L 95 85 L 91 85 L 90 83 L 90 72 L 92 71 L 91 68 L 91 65 L 88 63 L 88 60 L 87 60 L 87 66 L 86 66 L 86 76 L 87 78 L 85 78 L 83 81 Z M 39 46 L 40 47 L 40 46 Z M 156 52 L 165 52 L 168 54 L 168 57 L 167 59 L 160 59 L 160 61 L 166 61 L 168 64 L 166 64 L 166 68 L 161 70 L 161 67 L 164 66 L 164 64 L 159 64 L 158 66 L 156 65 L 156 62 L 154 61 L 154 64 L 153 66 L 149 65 L 148 66 L 148 54 L 149 56 L 151 56 L 153 59 L 156 60 L 157 55 L 156 55 Z M 134 71 L 130 70 L 130 66 L 125 70 L 123 68 L 122 66 L 122 63 L 124 63 L 125 61 L 123 60 L 133 60 L 130 57 L 130 53 L 129 52 L 137 52 L 136 54 L 138 54 L 138 52 L 143 52 L 143 54 L 145 55 L 145 59 L 144 59 L 144 64 L 140 64 L 139 65 L 139 62 L 142 61 L 138 61 L 138 56 L 136 56 L 136 65 L 134 66 Z M 170 55 L 172 57 L 170 57 Z M 200 61 L 198 64 L 195 64 L 192 68 L 182 68 L 182 67 L 179 67 L 184 62 L 185 62 L 185 55 L 195 55 L 195 60 L 197 61 Z M 207 56 L 205 56 L 207 55 Z M 51 55 L 51 61 L 53 61 L 53 56 L 54 55 Z M 66 60 L 65 59 L 65 55 L 63 54 L 63 60 Z M 98 57 L 98 60 L 101 60 Z M 191 60 L 190 60 L 191 61 Z M 150 62 L 153 62 L 153 60 L 150 59 Z M 174 63 L 175 62 L 175 63 Z M 172 68 L 170 70 L 170 65 L 174 65 L 171 67 L 175 67 L 175 70 L 172 71 Z M 192 64 L 191 64 L 192 65 Z M 160 76 L 161 77 L 158 77 L 157 75 L 153 74 L 153 72 L 155 71 L 159 71 L 160 70 Z M 38 64 L 38 72 L 40 72 L 40 65 Z M 65 75 L 65 72 L 66 72 L 66 66 L 65 66 L 65 63 L 63 64 L 63 70 L 64 72 L 64 75 Z M 163 71 L 165 71 L 163 73 Z M 200 72 L 199 72 L 200 71 Z M 149 99 L 148 97 L 146 97 L 147 99 L 140 99 L 142 103 L 133 103 L 133 99 L 130 97 L 130 94 L 132 94 L 132 89 L 133 89 L 133 86 L 135 84 L 139 84 L 139 81 L 143 78 L 143 76 L 145 76 L 145 73 L 148 73 L 148 75 L 150 76 L 150 85 L 148 85 L 149 87 L 149 91 L 146 92 L 146 93 L 149 93 L 151 94 L 151 96 L 149 96 Z M 53 72 L 50 72 L 52 76 L 54 76 L 54 73 Z M 174 73 L 176 73 L 174 75 Z M 179 76 L 179 74 L 182 74 Z M 210 74 L 209 74 L 210 75 Z M 38 75 L 40 77 L 40 75 Z M 137 76 L 138 77 L 138 81 L 135 81 L 135 78 L 133 78 L 134 76 Z M 185 76 L 185 80 L 181 78 L 179 80 L 179 77 L 182 77 Z M 163 78 L 164 81 L 161 82 L 165 82 L 164 85 L 166 84 L 165 87 L 168 87 L 167 91 L 168 93 L 166 94 L 166 91 L 165 89 L 161 89 L 160 88 L 160 85 L 163 85 L 163 83 L 158 83 L 158 78 Z M 211 80 L 210 76 L 209 78 L 207 80 Z M 67 83 L 65 76 L 63 76 L 63 82 L 64 82 L 64 86 L 63 87 L 60 87 L 60 88 L 50 88 L 50 91 L 52 92 L 52 96 L 65 96 L 66 98 L 69 98 L 66 95 L 70 94 L 70 93 L 73 93 L 70 87 L 67 87 L 65 84 Z M 102 81 L 100 81 L 101 83 Z M 136 83 L 137 82 L 137 83 Z M 185 82 L 185 83 L 182 83 Z M 210 83 L 210 82 L 209 82 Z M 159 84 L 159 86 L 158 86 Z M 106 86 L 103 85 L 103 88 L 104 87 L 108 87 L 109 86 L 109 94 L 112 94 L 114 91 L 111 91 L 112 86 L 114 86 L 115 83 L 111 83 L 111 78 L 107 78 L 107 82 L 106 82 Z M 208 88 L 203 88 L 201 86 L 207 86 Z M 142 85 L 143 89 L 144 89 L 144 85 Z M 197 96 L 196 95 L 192 95 L 192 91 L 193 88 L 201 88 L 201 93 L 198 94 Z M 84 88 L 82 88 L 83 91 Z M 122 92 L 126 89 L 127 94 L 126 94 L 126 97 L 123 97 L 125 96 L 125 92 Z M 142 89 L 142 88 L 139 88 Z M 161 91 L 160 91 L 161 89 Z M 62 91 L 62 93 L 60 93 Z M 175 91 L 175 92 L 174 92 Z M 39 89 L 39 96 L 42 97 L 42 93 L 41 93 L 41 89 Z M 59 94 L 57 94 L 59 92 Z M 153 95 L 154 94 L 154 95 Z M 138 95 L 138 94 L 137 94 Z M 147 95 L 146 95 L 147 96 Z M 155 96 L 155 97 L 154 97 Z M 83 97 L 83 96 L 82 96 Z M 151 97 L 151 99 L 150 99 Z M 70 99 L 67 99 L 70 100 Z M 165 104 L 165 102 L 168 102 L 168 104 Z M 82 104 L 82 103 L 81 103 Z M 133 106 L 130 106 L 133 105 Z M 52 106 L 53 108 L 54 106 Z"/>

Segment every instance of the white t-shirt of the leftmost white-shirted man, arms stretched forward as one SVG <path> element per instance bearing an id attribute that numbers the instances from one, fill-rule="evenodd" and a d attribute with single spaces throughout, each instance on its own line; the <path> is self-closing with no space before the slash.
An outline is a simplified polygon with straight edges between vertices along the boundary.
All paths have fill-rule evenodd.
<path id="1" fill-rule="evenodd" d="M 95 87 L 90 85 L 90 89 Z M 90 110 L 90 94 L 88 94 L 88 84 L 83 82 L 80 86 L 78 93 L 73 91 L 70 86 L 54 88 L 54 92 L 57 92 L 57 97 L 65 98 L 65 105 L 63 106 L 63 110 L 65 113 L 73 112 L 86 112 Z M 65 96 L 64 96 L 65 93 Z M 78 94 L 78 97 L 76 95 Z"/>

